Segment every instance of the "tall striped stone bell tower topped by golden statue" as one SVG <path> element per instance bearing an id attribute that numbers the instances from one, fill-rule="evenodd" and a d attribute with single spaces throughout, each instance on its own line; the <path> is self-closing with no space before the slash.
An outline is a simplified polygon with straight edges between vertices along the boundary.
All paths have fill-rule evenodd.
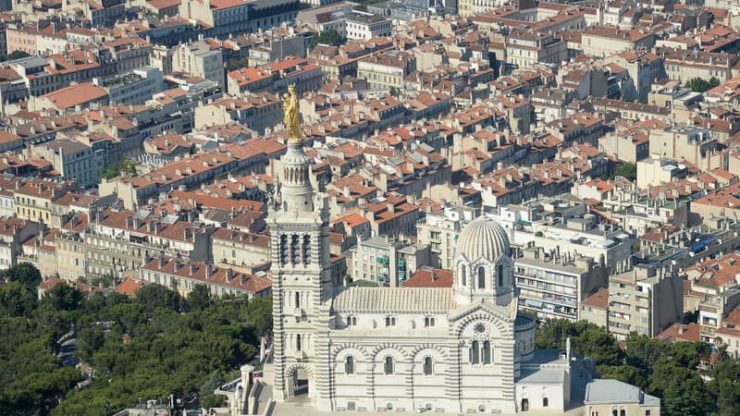
<path id="1" fill-rule="evenodd" d="M 310 160 L 303 151 L 298 99 L 284 96 L 288 150 L 282 157 L 281 186 L 268 217 L 272 258 L 274 331 L 273 397 L 276 401 L 308 395 L 328 403 L 322 382 L 328 364 L 329 310 L 334 292 L 329 259 L 329 211 L 313 192 Z M 324 360 L 326 361 L 326 360 Z M 324 387 L 326 386 L 326 387 Z M 325 390 L 325 391 L 324 391 Z"/>

